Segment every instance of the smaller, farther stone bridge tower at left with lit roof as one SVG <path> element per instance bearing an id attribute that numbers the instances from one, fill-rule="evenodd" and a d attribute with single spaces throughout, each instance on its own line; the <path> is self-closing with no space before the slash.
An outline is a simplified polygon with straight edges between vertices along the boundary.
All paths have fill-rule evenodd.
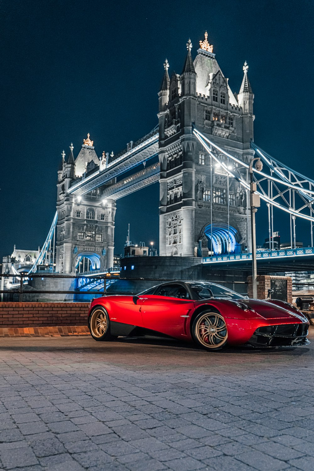
<path id="1" fill-rule="evenodd" d="M 59 273 L 75 273 L 80 262 L 82 268 L 82 260 L 87 260 L 85 265 L 89 271 L 113 267 L 116 205 L 115 201 L 102 196 L 107 185 L 82 196 L 68 192 L 83 174 L 86 177 L 99 165 L 104 165 L 105 154 L 100 162 L 89 134 L 83 142 L 76 159 L 72 144 L 67 160 L 63 151 L 58 170 L 56 272 Z M 83 267 L 80 271 L 87 269 Z"/>

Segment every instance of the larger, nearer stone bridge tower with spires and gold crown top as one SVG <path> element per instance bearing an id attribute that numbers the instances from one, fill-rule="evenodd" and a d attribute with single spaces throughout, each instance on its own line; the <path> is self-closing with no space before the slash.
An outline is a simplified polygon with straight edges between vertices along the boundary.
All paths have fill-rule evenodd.
<path id="1" fill-rule="evenodd" d="M 169 77 L 159 96 L 160 255 L 202 256 L 250 250 L 249 195 L 217 167 L 193 135 L 193 125 L 217 146 L 243 162 L 254 152 L 253 92 L 248 65 L 237 95 L 222 73 L 207 32 L 192 59 L 192 43 L 182 73 Z M 212 149 L 227 165 L 226 157 Z M 247 178 L 246 171 L 243 176 Z"/>

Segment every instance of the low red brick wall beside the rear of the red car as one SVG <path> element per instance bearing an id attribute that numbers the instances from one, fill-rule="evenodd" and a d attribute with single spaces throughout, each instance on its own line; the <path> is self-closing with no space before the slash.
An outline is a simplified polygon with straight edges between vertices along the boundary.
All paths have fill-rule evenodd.
<path id="1" fill-rule="evenodd" d="M 87 326 L 87 302 L 0 302 L 0 328 Z"/>

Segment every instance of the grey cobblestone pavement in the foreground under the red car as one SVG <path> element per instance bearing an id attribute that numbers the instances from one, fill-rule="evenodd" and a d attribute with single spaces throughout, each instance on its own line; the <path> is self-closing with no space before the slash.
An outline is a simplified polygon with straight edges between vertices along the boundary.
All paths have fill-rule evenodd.
<path id="1" fill-rule="evenodd" d="M 312 471 L 313 352 L 0 339 L 0 469 Z"/>

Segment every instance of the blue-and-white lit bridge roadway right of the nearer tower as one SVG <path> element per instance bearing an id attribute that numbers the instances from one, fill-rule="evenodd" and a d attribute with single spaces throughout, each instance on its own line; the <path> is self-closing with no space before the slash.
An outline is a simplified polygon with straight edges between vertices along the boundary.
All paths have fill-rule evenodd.
<path id="1" fill-rule="evenodd" d="M 203 257 L 203 266 L 212 269 L 245 269 L 251 268 L 252 254 L 217 255 Z M 298 249 L 270 250 L 257 252 L 258 274 L 284 271 L 311 271 L 314 267 L 314 247 Z"/>

